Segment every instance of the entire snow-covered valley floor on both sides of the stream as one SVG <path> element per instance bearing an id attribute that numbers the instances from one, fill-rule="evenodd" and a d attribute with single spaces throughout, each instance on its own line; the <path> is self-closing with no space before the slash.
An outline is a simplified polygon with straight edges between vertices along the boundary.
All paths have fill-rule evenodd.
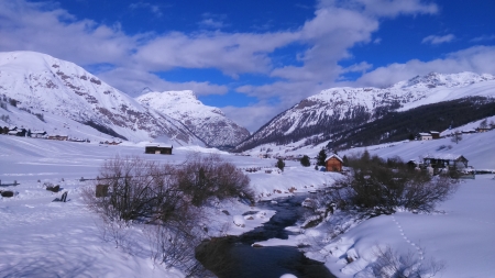
<path id="1" fill-rule="evenodd" d="M 477 169 L 495 169 L 495 146 L 492 132 L 465 135 L 459 144 L 450 138 L 429 142 L 402 142 L 367 147 L 371 154 L 382 157 L 400 156 L 414 159 L 430 153 L 450 152 L 464 155 Z M 451 148 L 440 146 L 451 145 Z M 316 148 L 315 152 L 317 152 Z M 351 155 L 363 149 L 351 149 Z M 179 164 L 191 152 L 217 152 L 237 167 L 261 168 L 246 173 L 257 199 L 272 199 L 296 192 L 312 191 L 331 185 L 340 174 L 316 171 L 301 167 L 298 162 L 287 160 L 287 167 L 278 173 L 275 159 L 237 156 L 212 148 L 177 147 L 174 155 L 144 155 L 144 145 L 124 144 L 106 146 L 95 143 L 56 142 L 16 136 L 0 136 L 0 180 L 2 187 L 15 196 L 0 200 L 0 274 L 3 277 L 183 277 L 179 269 L 166 269 L 154 265 L 150 258 L 144 232 L 136 227 L 129 233 L 133 244 L 116 248 L 102 240 L 98 229 L 99 219 L 86 209 L 81 189 L 91 185 L 81 177 L 95 178 L 100 165 L 114 156 L 141 156 L 162 163 Z M 308 152 L 310 149 L 298 149 Z M 265 169 L 271 169 L 266 174 Z M 40 180 L 40 182 L 38 182 Z M 44 182 L 61 185 L 68 192 L 67 202 L 52 202 L 62 192 L 44 189 Z M 441 203 L 432 214 L 397 212 L 362 222 L 333 241 L 326 241 L 324 225 L 308 229 L 287 241 L 271 240 L 262 245 L 309 244 L 311 258 L 324 260 L 338 277 L 373 277 L 370 265 L 376 256 L 375 246 L 391 246 L 399 254 L 420 255 L 444 263 L 442 277 L 491 277 L 495 273 L 493 233 L 495 223 L 495 180 L 493 175 L 476 176 L 462 181 L 455 194 Z M 222 213 L 230 212 L 230 215 Z M 233 220 L 253 208 L 237 202 L 221 202 L 211 208 L 215 221 L 205 220 L 211 236 L 224 233 L 241 234 L 267 221 L 273 212 L 265 211 L 245 226 L 237 226 Z M 245 219 L 245 218 L 244 218 Z M 101 224 L 101 223 L 100 223 Z M 221 231 L 222 230 L 222 231 Z M 299 227 L 292 227 L 299 231 Z M 419 248 L 419 249 L 418 249 Z M 331 252 L 331 253 L 330 253 Z M 420 253 L 422 252 L 422 253 Z M 352 257 L 349 264 L 346 257 Z"/>

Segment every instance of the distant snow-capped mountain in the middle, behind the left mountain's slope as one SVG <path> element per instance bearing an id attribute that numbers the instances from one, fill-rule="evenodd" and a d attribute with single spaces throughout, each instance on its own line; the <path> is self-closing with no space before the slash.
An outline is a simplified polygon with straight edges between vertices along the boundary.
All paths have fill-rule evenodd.
<path id="1" fill-rule="evenodd" d="M 246 129 L 228 119 L 220 109 L 202 104 L 190 90 L 147 92 L 136 100 L 184 123 L 209 146 L 235 146 L 250 135 Z"/>

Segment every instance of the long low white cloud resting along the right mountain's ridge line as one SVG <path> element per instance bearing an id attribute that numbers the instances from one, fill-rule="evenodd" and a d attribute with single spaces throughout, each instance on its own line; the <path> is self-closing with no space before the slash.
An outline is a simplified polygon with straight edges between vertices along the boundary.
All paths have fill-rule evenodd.
<path id="1" fill-rule="evenodd" d="M 405 64 L 395 63 L 363 75 L 354 82 L 354 86 L 387 87 L 431 71 L 441 74 L 473 71 L 495 75 L 495 46 L 474 46 L 429 62 L 411 59 Z"/>

